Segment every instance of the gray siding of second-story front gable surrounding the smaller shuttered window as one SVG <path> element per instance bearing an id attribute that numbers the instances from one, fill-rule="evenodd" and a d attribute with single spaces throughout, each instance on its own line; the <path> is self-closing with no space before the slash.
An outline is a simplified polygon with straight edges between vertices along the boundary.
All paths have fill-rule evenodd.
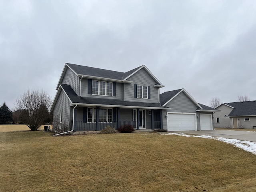
<path id="1" fill-rule="evenodd" d="M 144 68 L 132 75 L 128 80 L 133 81 L 133 83 L 124 84 L 124 101 L 158 103 L 158 88 L 154 87 L 158 83 Z M 150 99 L 134 98 L 134 84 L 150 86 Z"/>

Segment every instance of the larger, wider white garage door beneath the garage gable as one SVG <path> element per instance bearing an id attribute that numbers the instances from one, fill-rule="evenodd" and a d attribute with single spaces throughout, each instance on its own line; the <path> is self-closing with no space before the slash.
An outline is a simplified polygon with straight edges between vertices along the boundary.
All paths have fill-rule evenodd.
<path id="1" fill-rule="evenodd" d="M 194 131 L 196 130 L 196 114 L 168 113 L 168 131 Z"/>

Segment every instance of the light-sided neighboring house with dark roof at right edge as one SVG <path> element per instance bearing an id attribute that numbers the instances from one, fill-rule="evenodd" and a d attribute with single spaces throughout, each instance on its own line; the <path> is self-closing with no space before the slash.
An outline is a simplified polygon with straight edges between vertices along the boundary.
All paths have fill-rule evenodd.
<path id="1" fill-rule="evenodd" d="M 222 103 L 214 114 L 216 128 L 256 128 L 256 101 Z"/>

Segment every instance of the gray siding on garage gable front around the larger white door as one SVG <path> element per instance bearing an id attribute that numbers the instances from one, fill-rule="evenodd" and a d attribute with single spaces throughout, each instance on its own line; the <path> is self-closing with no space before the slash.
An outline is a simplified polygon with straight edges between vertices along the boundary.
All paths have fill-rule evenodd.
<path id="1" fill-rule="evenodd" d="M 180 94 L 166 104 L 166 107 L 171 109 L 163 110 L 163 129 L 165 130 L 167 130 L 167 112 L 196 113 L 196 109 L 198 108 L 198 106 L 196 106 L 183 92 L 180 92 Z M 197 130 L 200 130 L 200 123 L 198 126 L 198 120 Z"/>

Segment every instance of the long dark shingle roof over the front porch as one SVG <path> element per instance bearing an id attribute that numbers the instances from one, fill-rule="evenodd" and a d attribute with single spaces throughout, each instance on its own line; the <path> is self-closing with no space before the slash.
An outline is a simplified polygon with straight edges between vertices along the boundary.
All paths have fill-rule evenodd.
<path id="1" fill-rule="evenodd" d="M 102 105 L 115 105 L 115 106 L 138 106 L 138 107 L 152 107 L 158 108 L 161 107 L 158 103 L 144 103 L 144 102 L 128 102 L 123 100 L 116 99 L 105 99 L 105 98 L 88 98 L 88 97 L 79 97 L 70 85 L 61 84 L 62 88 L 72 101 L 72 103 L 80 104 L 102 104 Z"/>

